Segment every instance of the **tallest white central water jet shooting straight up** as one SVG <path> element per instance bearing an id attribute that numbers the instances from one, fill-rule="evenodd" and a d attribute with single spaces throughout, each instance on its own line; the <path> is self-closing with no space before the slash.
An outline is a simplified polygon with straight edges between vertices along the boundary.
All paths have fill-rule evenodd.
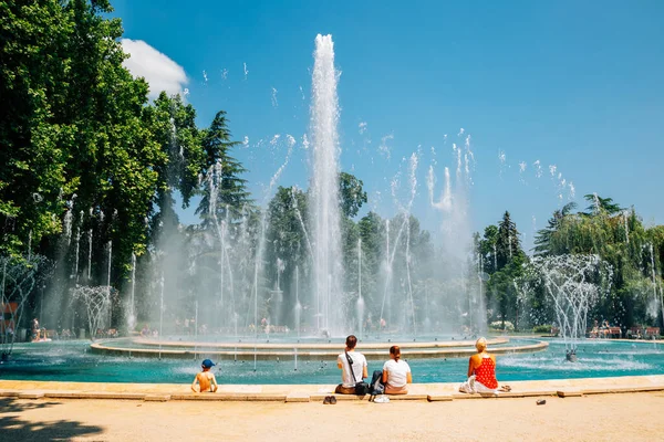
<path id="1" fill-rule="evenodd" d="M 332 35 L 317 35 L 313 53 L 311 223 L 315 255 L 313 296 L 319 329 L 339 334 L 342 322 L 341 219 L 339 210 L 339 101 Z"/>

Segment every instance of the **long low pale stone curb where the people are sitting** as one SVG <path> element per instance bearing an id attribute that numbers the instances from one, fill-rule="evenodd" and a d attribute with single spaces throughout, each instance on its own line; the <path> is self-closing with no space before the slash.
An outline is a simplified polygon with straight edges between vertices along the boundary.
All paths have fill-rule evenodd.
<path id="1" fill-rule="evenodd" d="M 500 392 L 496 399 L 582 397 L 587 394 L 637 393 L 664 391 L 664 375 L 616 378 L 559 379 L 510 382 L 512 391 Z M 174 383 L 104 383 L 0 380 L 0 398 L 18 399 L 120 399 L 165 402 L 196 401 L 260 401 L 319 402 L 334 394 L 330 385 L 238 385 L 220 386 L 216 393 L 195 393 L 188 386 Z M 408 394 L 390 396 L 391 401 L 449 402 L 453 400 L 487 399 L 480 394 L 457 391 L 458 383 L 415 383 Z M 339 402 L 367 401 L 369 394 L 334 394 Z M 490 398 L 494 399 L 494 398 Z"/>

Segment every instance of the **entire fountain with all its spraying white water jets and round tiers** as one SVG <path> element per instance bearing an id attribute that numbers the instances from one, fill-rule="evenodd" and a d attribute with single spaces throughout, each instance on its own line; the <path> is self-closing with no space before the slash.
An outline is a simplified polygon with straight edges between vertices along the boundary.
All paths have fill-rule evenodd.
<path id="1" fill-rule="evenodd" d="M 455 376 L 465 371 L 461 362 L 467 358 L 468 351 L 473 351 L 473 343 L 470 340 L 453 341 L 452 338 L 458 337 L 456 335 L 459 333 L 458 329 L 455 329 L 448 336 L 444 336 L 440 334 L 442 327 L 437 324 L 434 325 L 433 322 L 444 311 L 452 309 L 453 315 L 458 313 L 456 316 L 466 314 L 464 317 L 467 318 L 467 324 L 464 319 L 464 325 L 470 326 L 473 332 L 476 332 L 481 330 L 486 318 L 483 283 L 486 282 L 487 275 L 483 272 L 481 259 L 478 260 L 477 272 L 473 266 L 468 227 L 470 224 L 468 193 L 471 186 L 470 169 L 473 165 L 470 138 L 466 136 L 463 146 L 453 145 L 456 175 L 454 168 L 452 168 L 452 172 L 450 168 L 444 169 L 443 189 L 438 200 L 434 199 L 434 191 L 436 190 L 434 167 L 429 168 L 427 181 L 429 202 L 432 208 L 440 212 L 442 215 L 440 233 L 443 239 L 442 244 L 438 244 L 442 251 L 436 256 L 439 262 L 436 261 L 435 263 L 440 269 L 438 272 L 440 274 L 435 275 L 435 282 L 438 282 L 439 285 L 432 284 L 430 280 L 424 281 L 424 285 L 419 287 L 417 285 L 421 281 L 417 280 L 418 263 L 414 262 L 413 241 L 416 239 L 412 238 L 414 223 L 411 214 L 417 196 L 415 171 L 422 157 L 419 154 L 414 154 L 404 161 L 404 165 L 408 167 L 406 185 L 403 189 L 397 189 L 397 186 L 393 186 L 391 189 L 398 214 L 392 220 L 385 219 L 384 224 L 380 227 L 381 235 L 384 233 L 381 241 L 384 242 L 378 243 L 382 252 L 377 262 L 383 260 L 383 265 L 382 273 L 378 272 L 377 281 L 371 280 L 372 275 L 367 270 L 371 263 L 367 263 L 369 260 L 363 252 L 366 250 L 364 248 L 367 244 L 363 243 L 362 238 L 356 241 L 357 281 L 355 292 L 355 285 L 351 284 L 354 281 L 350 275 L 353 272 L 344 274 L 340 245 L 342 234 L 339 208 L 340 196 L 338 192 L 340 172 L 340 141 L 336 127 L 340 118 L 336 96 L 338 81 L 339 72 L 334 67 L 332 39 L 330 35 L 318 35 L 312 72 L 310 126 L 312 175 L 309 194 L 311 199 L 309 207 L 305 208 L 307 210 L 303 208 L 302 212 L 300 211 L 297 189 L 291 188 L 292 207 L 297 217 L 295 223 L 302 229 L 304 238 L 301 246 L 305 250 L 304 254 L 308 255 L 305 262 L 293 260 L 293 256 L 290 255 L 276 255 L 274 259 L 270 259 L 267 257 L 266 253 L 270 248 L 266 240 L 266 231 L 272 222 L 268 217 L 268 201 L 272 197 L 277 182 L 289 161 L 292 146 L 289 146 L 289 152 L 283 165 L 276 171 L 269 186 L 267 186 L 259 204 L 261 210 L 258 215 L 249 213 L 251 209 L 243 208 L 243 213 L 239 218 L 232 218 L 229 215 L 228 207 L 224 209 L 222 203 L 218 202 L 224 170 L 221 164 L 216 164 L 205 177 L 209 198 L 208 222 L 200 227 L 199 231 L 191 233 L 189 248 L 191 255 L 186 256 L 189 262 L 188 265 L 184 266 L 187 272 L 191 273 L 188 276 L 191 276 L 191 280 L 196 283 L 193 284 L 194 286 L 186 288 L 178 287 L 176 283 L 181 282 L 179 278 L 183 277 L 181 275 L 185 272 L 183 266 L 178 265 L 176 261 L 165 262 L 167 259 L 173 259 L 181 249 L 169 249 L 163 244 L 156 245 L 155 250 L 149 251 L 155 256 L 154 262 L 157 264 L 157 269 L 153 269 L 154 272 L 149 277 L 154 284 L 154 291 L 152 292 L 154 297 L 149 299 L 152 305 L 147 309 L 154 315 L 151 319 L 158 320 L 159 339 L 145 339 L 144 343 L 137 343 L 137 339 L 113 339 L 101 345 L 95 344 L 93 354 L 106 351 L 114 355 L 124 355 L 128 350 L 129 355 L 133 352 L 134 356 L 138 357 L 152 355 L 162 357 L 166 355 L 166 351 L 162 352 L 162 350 L 168 348 L 169 356 L 181 358 L 186 360 L 185 364 L 187 365 L 190 365 L 191 357 L 196 359 L 203 355 L 214 356 L 222 362 L 249 362 L 252 360 L 252 373 L 248 373 L 250 370 L 237 368 L 240 364 L 232 370 L 228 370 L 229 376 L 235 376 L 235 380 L 238 380 L 238 382 L 245 381 L 246 383 L 276 381 L 273 373 L 279 369 L 274 368 L 277 364 L 270 365 L 270 362 L 290 361 L 290 357 L 292 357 L 294 370 L 288 364 L 290 371 L 297 370 L 298 373 L 302 373 L 304 377 L 310 376 L 310 378 L 304 379 L 313 379 L 314 382 L 320 382 L 321 378 L 317 378 L 319 373 L 324 372 L 324 376 L 330 376 L 330 379 L 336 380 L 339 372 L 328 370 L 324 362 L 319 367 L 318 362 L 335 358 L 339 348 L 342 346 L 340 337 L 346 333 L 356 333 L 362 337 L 361 347 L 370 360 L 384 360 L 387 348 L 397 343 L 397 339 L 406 339 L 407 337 L 408 340 L 412 338 L 413 343 L 408 343 L 407 346 L 402 345 L 404 354 L 412 358 L 413 364 L 422 364 L 422 369 L 426 367 L 429 372 L 439 372 L 442 366 L 452 367 L 448 375 L 450 379 L 455 379 Z M 463 135 L 463 131 L 460 135 Z M 176 136 L 177 134 L 174 133 L 173 138 L 175 139 Z M 274 139 L 277 138 L 274 137 Z M 302 145 L 303 147 L 309 146 L 307 138 L 304 138 Z M 175 144 L 173 148 L 176 148 Z M 406 196 L 397 196 L 400 190 Z M 70 206 L 73 208 L 73 204 Z M 72 243 L 71 223 L 73 211 L 70 210 L 70 212 L 69 218 L 65 218 L 63 234 L 63 240 L 66 241 L 68 245 Z M 92 209 L 90 217 L 92 218 Z M 101 217 L 103 217 L 103 213 L 100 213 Z M 79 253 L 81 244 L 79 241 L 82 221 L 81 215 L 81 221 L 75 225 L 74 234 L 76 261 L 74 262 L 73 275 L 76 281 L 80 272 Z M 92 280 L 92 229 L 87 230 L 87 236 L 86 282 L 90 284 Z M 626 240 L 629 241 L 629 235 Z M 104 322 L 107 320 L 106 315 L 111 299 L 112 246 L 113 244 L 108 243 L 106 285 L 77 285 L 73 291 L 73 299 L 80 301 L 86 307 L 89 328 L 93 338 L 95 332 L 103 328 Z M 490 255 L 489 253 L 486 256 L 489 257 Z M 206 260 L 208 260 L 207 267 L 205 267 Z M 492 260 L 494 267 L 497 267 L 495 245 Z M 444 265 L 440 264 L 442 262 Z M 138 315 L 135 299 L 135 291 L 136 288 L 139 290 L 139 286 L 136 286 L 136 256 L 132 255 L 132 290 L 127 307 L 127 323 L 131 329 L 134 328 Z M 272 267 L 276 269 L 276 272 L 270 273 Z M 287 273 L 286 269 L 290 269 L 291 273 Z M 354 271 L 354 267 L 352 269 Z M 84 269 L 81 269 L 81 271 L 84 271 Z M 602 272 L 602 264 L 596 262 L 595 259 L 585 262 L 582 259 L 579 261 L 577 257 L 564 257 L 559 261 L 554 259 L 536 261 L 533 264 L 533 274 L 536 273 L 540 282 L 544 284 L 548 295 L 556 305 L 564 345 L 570 351 L 577 348 L 578 339 L 582 336 L 589 308 L 601 296 L 602 286 L 599 284 L 596 275 Z M 104 276 L 103 271 L 98 273 L 102 274 L 102 277 Z M 366 274 L 369 274 L 369 277 L 365 277 Z M 312 280 L 310 284 L 308 282 L 309 276 Z M 347 281 L 344 281 L 344 278 Z M 602 277 L 602 280 L 606 278 Z M 352 287 L 345 287 L 344 283 L 352 285 Z M 380 292 L 373 298 L 371 297 L 372 285 L 377 285 L 378 290 L 376 292 Z M 653 293 L 656 295 L 654 278 L 653 285 L 655 286 Z M 446 305 L 445 302 L 440 301 L 442 286 L 443 290 L 454 292 L 454 296 L 459 299 L 458 304 L 463 307 L 458 312 L 455 309 L 456 306 Z M 349 292 L 344 293 L 344 288 Z M 178 314 L 178 306 L 175 301 L 184 298 L 185 295 L 190 299 L 190 302 L 187 301 L 186 306 L 187 318 L 191 317 L 190 315 L 194 317 L 194 320 L 191 320 L 194 330 L 190 334 L 194 340 L 190 341 L 190 338 L 187 338 L 186 343 L 179 340 L 184 336 L 170 334 L 168 327 L 169 314 Z M 417 298 L 417 296 L 422 297 Z M 280 299 L 283 299 L 283 302 Z M 286 299 L 289 299 L 289 304 Z M 270 307 L 274 307 L 270 303 L 282 304 L 282 308 L 293 314 L 294 333 L 274 336 L 269 334 L 269 327 L 264 328 L 264 335 L 259 332 L 261 317 L 266 312 L 270 312 Z M 355 312 L 349 313 L 347 309 L 353 307 Z M 369 314 L 376 314 L 378 307 L 381 323 L 387 317 L 388 325 L 387 327 L 381 326 L 382 334 L 375 337 L 372 336 L 371 330 L 365 329 L 365 320 L 369 318 Z M 270 317 L 269 314 L 264 314 L 264 317 L 267 325 L 279 325 L 277 323 L 279 319 Z M 214 341 L 209 339 L 210 336 L 207 333 L 201 332 L 201 324 L 210 322 L 210 318 L 217 319 L 215 324 L 217 328 L 212 335 L 212 339 L 216 339 Z M 391 327 L 393 328 L 391 329 Z M 320 333 L 323 330 L 329 337 L 322 337 Z M 423 332 L 430 334 L 426 335 L 425 333 L 425 336 L 422 336 Z M 246 337 L 249 337 L 249 339 L 242 341 Z M 414 343 L 416 338 L 417 343 Z M 426 338 L 428 340 L 425 340 Z M 263 339 L 270 341 L 263 343 Z M 392 343 L 388 341 L 390 339 L 392 339 Z M 553 346 L 556 345 L 554 343 Z M 533 344 L 530 340 L 512 345 L 504 338 L 492 340 L 491 346 L 496 352 L 510 355 L 506 358 L 512 358 L 512 360 L 516 359 L 513 352 L 531 352 L 546 348 L 546 344 Z M 153 350 L 153 352 L 149 352 L 149 350 Z M 446 357 L 458 357 L 464 360 L 458 359 L 457 361 L 442 364 L 443 358 Z M 419 362 L 427 358 L 435 359 L 428 366 L 427 362 Z M 308 361 L 317 362 L 314 372 L 311 368 L 314 364 L 308 365 Z M 144 362 L 132 360 L 129 364 L 136 367 Z M 281 365 L 286 366 L 287 364 Z M 174 372 L 183 371 L 180 366 L 168 360 L 168 358 L 158 366 L 175 367 L 173 368 Z M 249 366 L 251 364 L 247 364 L 245 367 Z M 330 366 L 335 369 L 333 364 Z M 645 370 L 650 367 L 640 367 L 640 369 Z M 147 370 L 145 371 L 147 372 Z M 173 373 L 172 376 L 177 377 Z M 537 377 L 538 375 L 533 376 Z M 439 380 L 436 377 L 430 379 Z M 283 381 L 283 379 L 278 380 Z M 299 381 L 302 381 L 302 378 L 288 378 L 284 382 L 294 383 Z"/>

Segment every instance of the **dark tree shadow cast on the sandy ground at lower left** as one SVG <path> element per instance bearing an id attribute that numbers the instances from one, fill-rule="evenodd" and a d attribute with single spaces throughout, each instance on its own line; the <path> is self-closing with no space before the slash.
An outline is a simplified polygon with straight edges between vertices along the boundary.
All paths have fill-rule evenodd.
<path id="1" fill-rule="evenodd" d="M 84 425 L 79 421 L 22 420 L 21 413 L 59 406 L 60 402 L 24 401 L 13 398 L 0 399 L 0 440 L 3 441 L 69 441 L 74 438 L 101 434 L 103 429 Z M 15 414 L 15 415 L 6 415 Z"/>

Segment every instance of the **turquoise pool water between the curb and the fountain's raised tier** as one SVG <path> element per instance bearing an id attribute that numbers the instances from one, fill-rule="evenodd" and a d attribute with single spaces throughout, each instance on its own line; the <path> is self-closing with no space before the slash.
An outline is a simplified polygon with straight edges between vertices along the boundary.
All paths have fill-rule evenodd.
<path id="1" fill-rule="evenodd" d="M 538 339 L 512 339 L 492 345 L 536 344 Z M 569 378 L 602 378 L 615 376 L 664 375 L 664 349 L 661 344 L 647 341 L 582 340 L 578 346 L 579 361 L 564 361 L 564 341 L 548 340 L 542 351 L 498 355 L 497 373 L 500 381 L 544 380 Z M 341 347 L 339 347 L 341 348 Z M 361 348 L 359 347 L 361 350 Z M 52 341 L 17 344 L 11 360 L 0 365 L 0 378 L 8 380 L 100 381 L 139 383 L 189 383 L 205 354 L 197 359 L 156 359 L 93 354 L 90 341 Z M 369 371 L 381 369 L 383 358 L 371 359 Z M 467 370 L 467 358 L 405 358 L 418 383 L 461 382 Z M 299 360 L 292 356 L 279 361 L 234 361 L 215 358 L 212 369 L 219 383 L 226 385 L 333 385 L 340 380 L 334 357 L 322 360 Z M 256 371 L 255 371 L 256 367 Z"/>

